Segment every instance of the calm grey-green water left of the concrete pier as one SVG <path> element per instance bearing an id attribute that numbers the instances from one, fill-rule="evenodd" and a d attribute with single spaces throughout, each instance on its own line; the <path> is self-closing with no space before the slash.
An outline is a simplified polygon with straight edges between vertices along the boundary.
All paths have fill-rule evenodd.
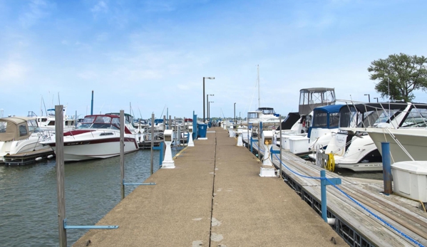
<path id="1" fill-rule="evenodd" d="M 179 150 L 173 149 L 173 154 Z M 159 152 L 154 152 L 154 171 Z M 125 182 L 150 177 L 150 150 L 125 155 Z M 94 225 L 120 201 L 120 157 L 66 163 L 69 225 Z M 129 194 L 136 186 L 126 186 Z M 0 246 L 58 246 L 55 160 L 21 167 L 0 165 Z M 71 246 L 87 230 L 67 231 Z M 106 230 L 114 231 L 114 230 Z"/>

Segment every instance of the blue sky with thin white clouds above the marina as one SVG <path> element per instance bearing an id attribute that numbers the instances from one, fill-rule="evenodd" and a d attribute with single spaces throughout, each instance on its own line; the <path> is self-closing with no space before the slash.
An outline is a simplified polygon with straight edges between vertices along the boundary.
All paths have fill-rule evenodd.
<path id="1" fill-rule="evenodd" d="M 427 1 L 0 0 L 0 108 L 4 115 L 129 112 L 200 117 L 261 106 L 297 111 L 299 90 L 379 97 L 371 61 L 426 56 Z M 200 96 L 202 95 L 202 96 Z M 351 95 L 351 96 L 350 96 Z M 380 99 L 381 100 L 381 99 Z M 416 102 L 427 103 L 426 93 Z M 44 111 L 44 106 L 42 107 Z M 166 114 L 164 110 L 163 115 Z M 207 113 L 206 113 L 207 114 Z"/>

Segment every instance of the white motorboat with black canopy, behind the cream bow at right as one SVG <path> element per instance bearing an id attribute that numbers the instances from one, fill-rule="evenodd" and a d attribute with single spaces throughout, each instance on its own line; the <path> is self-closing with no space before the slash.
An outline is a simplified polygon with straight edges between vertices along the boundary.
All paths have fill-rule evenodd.
<path id="1" fill-rule="evenodd" d="M 426 104 L 363 103 L 341 107 L 339 132 L 324 152 L 334 154 L 335 167 L 354 172 L 381 171 L 381 153 L 366 132 L 367 128 L 411 126 L 413 116 L 421 113 L 427 113 Z"/>

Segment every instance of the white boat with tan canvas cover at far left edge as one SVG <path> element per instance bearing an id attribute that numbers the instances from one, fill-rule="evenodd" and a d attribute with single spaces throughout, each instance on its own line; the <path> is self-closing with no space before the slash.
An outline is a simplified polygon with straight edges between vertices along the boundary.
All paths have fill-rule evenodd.
<path id="1" fill-rule="evenodd" d="M 0 162 L 8 154 L 50 150 L 41 144 L 46 137 L 48 132 L 38 128 L 35 117 L 0 118 Z"/>

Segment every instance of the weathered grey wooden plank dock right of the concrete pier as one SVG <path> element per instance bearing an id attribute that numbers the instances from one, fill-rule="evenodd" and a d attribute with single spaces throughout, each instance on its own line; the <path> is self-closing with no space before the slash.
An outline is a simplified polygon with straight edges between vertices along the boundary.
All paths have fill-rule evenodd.
<path id="1" fill-rule="evenodd" d="M 244 141 L 247 142 L 247 140 Z M 254 143 L 257 144 L 257 142 Z M 256 150 L 258 149 L 256 145 L 253 147 Z M 279 147 L 274 146 L 274 149 L 279 150 Z M 273 163 L 279 167 L 277 157 L 273 155 Z M 317 206 L 316 201 L 321 201 L 319 179 L 307 179 L 294 174 L 294 172 L 308 177 L 319 177 L 322 168 L 285 149 L 282 149 L 282 162 L 287 166 L 282 167 L 282 174 L 288 183 L 294 186 L 307 203 L 312 204 L 315 208 Z M 289 169 L 294 172 L 290 172 Z M 358 246 L 358 244 L 361 246 L 364 244 L 366 244 L 365 246 L 420 246 L 404 237 L 403 234 L 418 241 L 421 246 L 427 246 L 427 213 L 422 208 L 418 208 L 421 203 L 395 194 L 389 196 L 382 194 L 384 187 L 381 180 L 341 177 L 327 171 L 326 177 L 341 178 L 342 184 L 338 185 L 339 189 L 400 231 L 395 231 L 390 226 L 386 226 L 384 221 L 379 220 L 354 201 L 351 201 L 338 189 L 327 186 L 328 212 L 334 218 L 339 219 L 339 224 L 342 226 L 335 226 L 336 230 L 346 241 L 354 243 L 353 246 Z M 357 239 L 358 237 L 363 239 Z"/>

